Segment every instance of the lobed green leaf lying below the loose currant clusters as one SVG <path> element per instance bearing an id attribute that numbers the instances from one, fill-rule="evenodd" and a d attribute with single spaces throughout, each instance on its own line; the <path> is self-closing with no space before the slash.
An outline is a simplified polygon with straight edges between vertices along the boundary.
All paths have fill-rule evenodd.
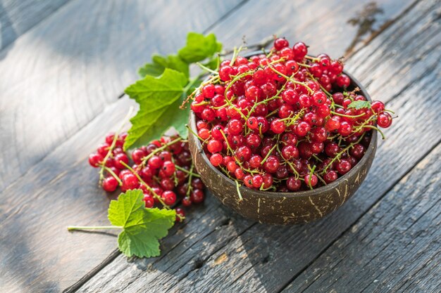
<path id="1" fill-rule="evenodd" d="M 118 247 L 126 256 L 159 256 L 159 239 L 166 237 L 175 223 L 173 209 L 146 209 L 142 190 L 128 190 L 108 207 L 108 220 L 120 226 Z"/>

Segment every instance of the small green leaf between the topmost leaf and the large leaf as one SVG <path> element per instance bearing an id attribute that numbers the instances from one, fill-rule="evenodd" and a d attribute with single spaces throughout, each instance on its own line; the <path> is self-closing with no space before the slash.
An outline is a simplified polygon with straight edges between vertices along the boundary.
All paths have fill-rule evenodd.
<path id="1" fill-rule="evenodd" d="M 146 75 L 159 77 L 166 68 L 182 72 L 186 77 L 190 75 L 188 63 L 185 63 L 178 55 L 169 55 L 167 57 L 154 55 L 151 57 L 151 63 L 146 63 L 143 67 L 139 68 L 138 74 L 140 77 L 145 77 Z"/>

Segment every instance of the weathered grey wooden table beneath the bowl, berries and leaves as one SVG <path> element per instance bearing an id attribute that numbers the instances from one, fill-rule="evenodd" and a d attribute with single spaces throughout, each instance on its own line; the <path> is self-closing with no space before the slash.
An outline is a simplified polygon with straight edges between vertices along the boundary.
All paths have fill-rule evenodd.
<path id="1" fill-rule="evenodd" d="M 359 1 L 0 3 L 1 292 L 439 292 L 441 4 Z M 133 105 L 139 65 L 189 31 L 225 48 L 272 34 L 347 56 L 397 110 L 368 178 L 321 221 L 266 226 L 209 197 L 162 241 L 127 259 L 87 155 Z"/>

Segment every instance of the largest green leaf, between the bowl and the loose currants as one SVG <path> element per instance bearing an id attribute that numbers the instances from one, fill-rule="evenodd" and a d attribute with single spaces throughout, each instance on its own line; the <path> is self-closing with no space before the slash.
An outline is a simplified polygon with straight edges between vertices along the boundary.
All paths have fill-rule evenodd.
<path id="1" fill-rule="evenodd" d="M 130 119 L 132 127 L 125 139 L 125 149 L 147 145 L 152 139 L 159 138 L 170 125 L 182 122 L 182 112 L 185 111 L 179 106 L 187 82 L 184 74 L 166 68 L 160 77 L 147 75 L 125 89 L 125 93 L 139 104 L 137 115 Z"/>

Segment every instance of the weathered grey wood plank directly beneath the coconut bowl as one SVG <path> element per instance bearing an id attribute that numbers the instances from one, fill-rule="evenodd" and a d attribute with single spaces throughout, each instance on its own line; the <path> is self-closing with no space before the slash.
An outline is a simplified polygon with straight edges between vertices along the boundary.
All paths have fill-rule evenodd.
<path id="1" fill-rule="evenodd" d="M 209 232 L 218 235 L 232 226 L 232 233 L 239 237 L 230 240 L 228 245 L 218 245 L 216 240 L 199 240 L 190 249 L 185 248 L 187 239 L 195 237 L 193 230 L 187 234 L 187 229 L 197 226 L 194 229 L 204 234 L 211 229 L 206 222 L 218 218 L 213 209 L 209 213 L 212 218 L 206 222 L 187 223 L 182 237 L 174 240 L 178 243 L 175 247 L 169 246 L 166 240 L 161 258 L 128 262 L 118 256 L 80 292 L 115 292 L 123 288 L 133 292 L 278 292 L 283 289 L 439 143 L 439 138 L 433 136 L 441 124 L 438 114 L 441 100 L 437 94 L 440 84 L 435 82 L 440 74 L 436 8 L 437 4 L 430 1 L 417 4 L 348 61 L 349 70 L 357 72 L 356 77 L 362 83 L 369 84 L 368 91 L 376 95 L 382 93 L 378 98 L 389 101 L 388 106 L 399 112 L 399 119 L 393 129 L 386 131 L 388 139 L 380 143 L 368 179 L 342 209 L 322 221 L 294 227 L 249 223 L 243 228 L 244 220 L 232 215 L 230 225 L 219 225 Z M 412 42 L 404 47 L 400 43 L 410 39 Z M 378 56 L 374 54 L 377 52 Z M 392 64 L 387 52 L 395 54 Z M 409 72 L 406 77 L 402 76 L 404 70 Z M 371 82 L 371 77 L 381 76 L 381 72 L 387 74 L 387 84 L 385 79 L 380 83 Z M 239 227 L 237 231 L 235 226 Z M 213 251 L 216 253 L 211 254 Z M 180 259 L 187 264 L 173 264 Z M 114 278 L 118 279 L 113 281 Z"/>

